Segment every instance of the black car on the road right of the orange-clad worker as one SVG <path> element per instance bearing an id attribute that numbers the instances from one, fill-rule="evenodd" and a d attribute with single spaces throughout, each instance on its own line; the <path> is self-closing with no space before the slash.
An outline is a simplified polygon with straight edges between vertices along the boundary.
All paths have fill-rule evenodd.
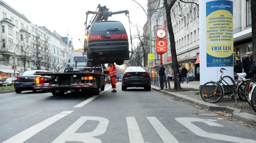
<path id="1" fill-rule="evenodd" d="M 144 87 L 151 90 L 150 74 L 143 67 L 128 67 L 122 77 L 122 91 L 127 87 Z"/>

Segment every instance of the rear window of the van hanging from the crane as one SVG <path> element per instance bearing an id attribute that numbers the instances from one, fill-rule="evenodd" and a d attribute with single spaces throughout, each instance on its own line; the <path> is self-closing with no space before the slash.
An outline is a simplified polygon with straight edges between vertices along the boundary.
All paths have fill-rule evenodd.
<path id="1" fill-rule="evenodd" d="M 96 22 L 91 26 L 91 32 L 98 31 L 125 31 L 121 22 L 109 21 L 109 22 Z"/>

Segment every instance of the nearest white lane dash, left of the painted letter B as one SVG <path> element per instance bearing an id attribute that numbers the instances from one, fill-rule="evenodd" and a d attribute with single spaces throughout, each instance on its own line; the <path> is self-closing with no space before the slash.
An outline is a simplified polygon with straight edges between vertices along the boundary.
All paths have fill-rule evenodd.
<path id="1" fill-rule="evenodd" d="M 36 133 L 42 131 L 44 128 L 50 126 L 52 123 L 58 121 L 59 119 L 65 117 L 68 114 L 63 114 L 63 113 L 72 113 L 73 111 L 64 111 L 60 114 L 54 115 L 20 133 L 18 133 L 17 135 L 11 137 L 10 139 L 4 141 L 3 143 L 22 143 L 24 141 L 26 141 L 27 139 L 31 138 L 32 136 L 34 136 Z"/>

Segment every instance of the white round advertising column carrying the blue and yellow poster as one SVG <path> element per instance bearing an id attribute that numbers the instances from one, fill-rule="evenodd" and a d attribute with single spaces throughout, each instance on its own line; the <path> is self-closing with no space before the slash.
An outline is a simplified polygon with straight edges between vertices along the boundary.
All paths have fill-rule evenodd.
<path id="1" fill-rule="evenodd" d="M 200 0 L 199 5 L 200 85 L 203 85 L 217 81 L 220 68 L 227 69 L 224 75 L 234 77 L 233 0 Z"/>

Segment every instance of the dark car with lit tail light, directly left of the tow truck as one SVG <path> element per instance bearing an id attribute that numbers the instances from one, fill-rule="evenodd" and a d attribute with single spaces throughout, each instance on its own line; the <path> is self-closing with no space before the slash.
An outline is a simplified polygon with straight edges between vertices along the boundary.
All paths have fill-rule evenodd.
<path id="1" fill-rule="evenodd" d="M 15 77 L 14 88 L 16 93 L 21 93 L 25 90 L 32 90 L 33 92 L 36 92 L 37 90 L 40 90 L 34 89 L 37 82 L 39 82 L 39 84 L 49 83 L 51 77 L 34 75 L 36 71 L 49 72 L 47 70 L 28 70 L 22 75 Z M 44 91 L 48 92 L 47 90 Z"/>

